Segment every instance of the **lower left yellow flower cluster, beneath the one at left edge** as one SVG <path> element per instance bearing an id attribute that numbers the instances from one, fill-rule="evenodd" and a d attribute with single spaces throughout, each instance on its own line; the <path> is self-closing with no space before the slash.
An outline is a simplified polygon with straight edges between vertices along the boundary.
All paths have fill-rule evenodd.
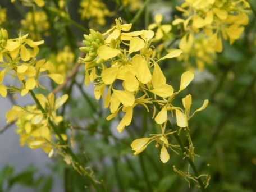
<path id="1" fill-rule="evenodd" d="M 29 105 L 25 108 L 13 106 L 6 113 L 7 122 L 16 121 L 17 134 L 20 135 L 20 145 L 27 144 L 31 149 L 42 148 L 51 157 L 54 151 L 54 138 L 59 139 L 53 134 L 52 127 L 49 125 L 48 118 L 58 125 L 62 116 L 57 116 L 57 109 L 60 108 L 68 99 L 68 95 L 54 99 L 50 93 L 48 97 L 43 94 L 36 94 L 45 114 L 36 105 Z M 61 134 L 63 139 L 67 139 L 66 134 Z"/>

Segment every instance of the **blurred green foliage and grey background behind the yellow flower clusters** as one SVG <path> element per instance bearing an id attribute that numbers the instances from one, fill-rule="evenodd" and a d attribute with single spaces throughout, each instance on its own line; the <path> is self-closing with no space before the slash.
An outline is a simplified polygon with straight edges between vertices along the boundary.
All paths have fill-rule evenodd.
<path id="1" fill-rule="evenodd" d="M 45 2 L 54 6 L 51 1 Z M 42 58 L 54 60 L 68 45 L 74 61 L 77 61 L 83 34 L 88 34 L 89 28 L 106 31 L 116 17 L 129 22 L 141 11 L 133 30 L 147 28 L 157 13 L 163 15 L 164 24 L 171 24 L 175 15 L 181 15 L 175 7 L 183 1 L 138 0 L 126 3 L 104 0 L 105 6 L 100 7 L 100 10 L 108 10 L 104 11 L 104 20 L 86 16 L 86 1 L 63 2 L 63 10 L 70 14 L 75 24 L 47 8 L 36 8 L 50 18 L 40 20 L 44 15 L 39 16 L 37 22 L 42 29 L 33 36 L 45 40 L 45 45 L 40 48 Z M 224 42 L 223 52 L 211 56 L 203 70 L 198 69 L 193 58 L 189 62 L 167 60 L 161 64 L 168 82 L 176 89 L 182 72 L 194 67 L 195 80 L 177 100 L 191 93 L 193 109 L 196 109 L 204 99 L 209 99 L 207 109 L 196 114 L 190 122 L 195 153 L 199 155 L 196 166 L 200 173 L 211 175 L 208 191 L 256 191 L 256 1 L 249 2 L 253 11 L 241 38 L 232 45 Z M 22 6 L 19 1 L 12 4 L 8 0 L 1 0 L 0 6 L 7 15 L 0 26 L 8 29 L 10 36 L 17 36 L 19 32 L 32 34 L 27 13 L 34 7 Z M 175 40 L 175 30 L 168 38 L 177 48 L 179 40 Z M 75 38 L 77 43 L 70 43 L 65 34 Z M 74 62 L 70 65 L 72 68 Z M 193 182 L 189 188 L 188 182 L 173 172 L 173 165 L 188 170 L 186 162 L 175 153 L 166 164 L 159 161 L 159 150 L 153 144 L 139 156 L 132 155 L 131 141 L 156 132 L 157 125 L 152 123 L 144 109 L 138 108 L 132 124 L 124 133 L 118 134 L 118 121 L 105 120 L 108 111 L 94 99 L 93 85 L 82 86 L 83 70 L 76 76 L 77 84 L 71 92 L 65 121 L 74 126 L 76 152 L 85 166 L 92 168 L 97 178 L 104 181 L 106 191 L 198 191 Z M 8 79 L 6 81 L 8 83 Z M 54 86 L 47 81 L 43 84 L 50 90 Z M 5 114 L 16 103 L 29 104 L 31 98 L 18 95 L 17 98 L 0 98 L 0 191 L 91 191 L 89 181 L 82 179 L 60 157 L 50 159 L 43 150 L 20 147 L 16 126 L 5 127 Z"/>

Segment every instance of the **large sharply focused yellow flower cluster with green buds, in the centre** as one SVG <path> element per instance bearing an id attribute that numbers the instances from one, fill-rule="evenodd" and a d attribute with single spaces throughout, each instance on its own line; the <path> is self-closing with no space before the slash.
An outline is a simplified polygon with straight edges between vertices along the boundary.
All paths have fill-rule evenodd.
<path id="1" fill-rule="evenodd" d="M 102 97 L 104 107 L 110 109 L 111 115 L 107 120 L 116 117 L 119 112 L 124 113 L 117 126 L 118 132 L 122 132 L 131 124 L 136 106 L 143 106 L 148 112 L 149 108 L 153 108 L 152 118 L 161 125 L 161 134 L 135 140 L 131 147 L 135 150 L 135 154 L 138 154 L 149 143 L 156 141 L 157 145 L 162 145 L 160 158 L 165 163 L 169 159 L 167 148 L 172 149 L 174 146 L 168 143 L 168 135 L 175 132 L 166 130 L 168 115 L 176 116 L 177 125 L 188 130 L 188 120 L 195 112 L 207 107 L 208 100 L 205 100 L 203 106 L 192 115 L 190 115 L 191 95 L 182 99 L 185 109 L 173 106 L 176 95 L 190 84 L 194 74 L 190 71 L 184 72 L 181 76 L 180 88 L 175 92 L 167 83 L 159 62 L 178 57 L 182 51 L 174 49 L 156 61 L 151 46 L 154 32 L 152 30 L 129 32 L 131 26 L 131 24 L 122 24 L 121 19 L 116 19 L 116 25 L 106 33 L 101 34 L 91 29 L 89 35 L 84 35 L 84 47 L 80 49 L 86 52 L 86 57 L 80 58 L 80 62 L 85 63 L 85 84 L 94 82 L 95 98 Z M 106 88 L 107 94 L 105 94 Z"/>

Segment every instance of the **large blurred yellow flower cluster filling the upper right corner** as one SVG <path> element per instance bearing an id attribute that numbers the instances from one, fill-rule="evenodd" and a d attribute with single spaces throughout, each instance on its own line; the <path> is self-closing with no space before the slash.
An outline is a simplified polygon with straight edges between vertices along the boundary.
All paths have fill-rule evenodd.
<path id="1" fill-rule="evenodd" d="M 186 54 L 182 60 L 189 63 L 190 58 L 196 58 L 195 63 L 201 70 L 209 57 L 222 52 L 222 40 L 234 43 L 249 22 L 250 5 L 246 0 L 186 0 L 176 8 L 182 17 L 177 17 L 172 24 L 181 25 L 185 33 L 179 45 Z M 211 48 L 202 50 L 205 47 Z M 195 49 L 200 49 L 200 53 Z"/>

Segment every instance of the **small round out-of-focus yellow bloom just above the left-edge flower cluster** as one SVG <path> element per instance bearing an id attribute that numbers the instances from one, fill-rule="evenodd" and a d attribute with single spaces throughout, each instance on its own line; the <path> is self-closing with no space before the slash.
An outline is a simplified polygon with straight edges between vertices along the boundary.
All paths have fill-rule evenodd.
<path id="1" fill-rule="evenodd" d="M 42 39 L 42 34 L 48 35 L 49 22 L 44 11 L 33 11 L 26 13 L 25 19 L 21 20 L 24 33 L 29 33 L 33 40 Z"/>

